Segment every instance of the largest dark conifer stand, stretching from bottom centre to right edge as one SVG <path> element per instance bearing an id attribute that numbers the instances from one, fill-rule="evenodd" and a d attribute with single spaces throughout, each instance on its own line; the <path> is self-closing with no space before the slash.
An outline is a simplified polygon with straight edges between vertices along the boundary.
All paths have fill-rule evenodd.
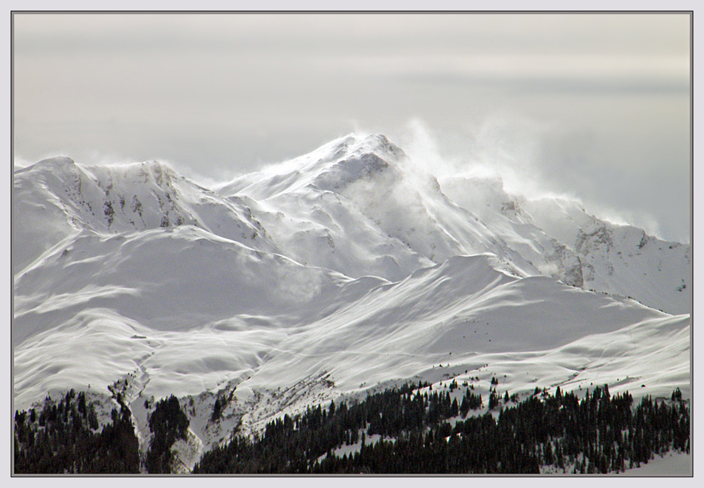
<path id="1" fill-rule="evenodd" d="M 483 406 L 470 388 L 461 402 L 447 391 L 416 390 L 406 385 L 359 403 L 332 402 L 327 409 L 318 405 L 284 415 L 261 436 L 237 436 L 206 452 L 194 473 L 508 474 L 537 473 L 542 465 L 606 473 L 690 449 L 689 408 L 679 391 L 670 402 L 646 396 L 633 408 L 629 393 L 612 397 L 608 386 L 587 391 L 581 401 L 559 388 L 555 395 L 537 390 L 510 406 L 508 395 L 501 405 L 493 389 L 498 418 L 489 412 L 466 418 Z M 359 435 L 364 429 L 393 440 L 369 445 L 364 432 Z M 359 440 L 358 452 L 334 455 L 337 447 Z"/>

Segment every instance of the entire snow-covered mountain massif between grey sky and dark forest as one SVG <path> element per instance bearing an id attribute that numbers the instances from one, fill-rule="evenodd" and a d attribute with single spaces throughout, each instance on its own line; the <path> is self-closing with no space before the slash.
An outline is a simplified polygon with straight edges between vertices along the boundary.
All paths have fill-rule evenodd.
<path id="1" fill-rule="evenodd" d="M 690 394 L 689 245 L 438 181 L 384 136 L 213 189 L 57 157 L 15 172 L 13 212 L 16 408 L 118 384 L 145 428 L 174 393 L 186 466 L 234 425 L 407 380 Z"/>

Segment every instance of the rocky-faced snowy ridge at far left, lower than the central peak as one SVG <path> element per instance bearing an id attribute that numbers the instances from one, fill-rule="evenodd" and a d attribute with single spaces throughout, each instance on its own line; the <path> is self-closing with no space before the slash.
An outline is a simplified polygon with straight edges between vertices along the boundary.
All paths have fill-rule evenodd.
<path id="1" fill-rule="evenodd" d="M 79 166 L 56 157 L 15 172 L 15 274 L 70 235 L 191 225 L 275 251 L 248 208 L 201 188 L 157 161 Z"/>

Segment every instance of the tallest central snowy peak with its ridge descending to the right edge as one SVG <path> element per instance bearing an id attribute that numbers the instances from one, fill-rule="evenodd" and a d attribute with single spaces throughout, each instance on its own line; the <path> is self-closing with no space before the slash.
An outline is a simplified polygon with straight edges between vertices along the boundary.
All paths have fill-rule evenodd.
<path id="1" fill-rule="evenodd" d="M 269 224 L 290 255 L 350 276 L 397 280 L 399 273 L 424 265 L 406 255 L 397 258 L 403 248 L 434 263 L 453 255 L 492 253 L 519 276 L 552 276 L 670 313 L 691 309 L 685 292 L 691 282 L 688 246 L 601 221 L 574 202 L 511 196 L 500 179 L 451 177 L 438 183 L 380 135 L 337 139 L 218 191 L 258 202 L 251 205 L 256 218 Z M 350 216 L 350 208 L 364 218 Z M 283 216 L 295 224 L 288 225 Z M 372 256 L 375 263 L 390 258 L 398 266 L 384 272 L 360 262 L 358 249 L 338 248 L 338 242 L 349 242 L 353 229 L 364 230 L 354 235 L 356 241 L 379 234 L 391 238 L 375 246 L 384 255 Z M 353 262 L 346 261 L 350 255 Z"/>

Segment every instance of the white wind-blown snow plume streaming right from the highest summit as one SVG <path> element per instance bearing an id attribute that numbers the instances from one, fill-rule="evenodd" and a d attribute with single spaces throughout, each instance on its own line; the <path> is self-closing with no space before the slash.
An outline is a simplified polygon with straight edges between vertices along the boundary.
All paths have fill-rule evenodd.
<path id="1" fill-rule="evenodd" d="M 592 138 L 584 131 L 569 132 L 550 122 L 496 112 L 468 123 L 463 132 L 442 136 L 446 142 L 451 138 L 453 149 L 441 150 L 441 134 L 415 118 L 406 124 L 399 139 L 414 164 L 441 181 L 443 189 L 443 182 L 458 178 L 500 180 L 503 190 L 517 198 L 573 200 L 588 205 L 601 220 L 643 228 L 649 235 L 662 238 L 661 226 L 652 213 L 609 206 L 596 201 L 593 191 L 579 193 L 580 189 L 589 190 L 589 175 L 593 181 L 605 177 L 599 174 L 602 169 L 589 166 L 593 162 L 574 155 L 593 150 Z"/>

